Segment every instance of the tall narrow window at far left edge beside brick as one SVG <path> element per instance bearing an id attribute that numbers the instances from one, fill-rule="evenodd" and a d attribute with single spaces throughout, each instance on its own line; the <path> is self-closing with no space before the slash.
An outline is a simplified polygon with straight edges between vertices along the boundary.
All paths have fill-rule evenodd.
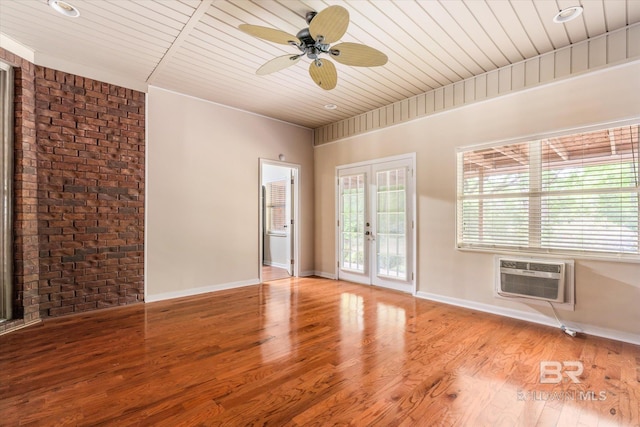
<path id="1" fill-rule="evenodd" d="M 12 304 L 12 180 L 13 180 L 13 72 L 0 62 L 0 321 L 11 318 Z"/>

